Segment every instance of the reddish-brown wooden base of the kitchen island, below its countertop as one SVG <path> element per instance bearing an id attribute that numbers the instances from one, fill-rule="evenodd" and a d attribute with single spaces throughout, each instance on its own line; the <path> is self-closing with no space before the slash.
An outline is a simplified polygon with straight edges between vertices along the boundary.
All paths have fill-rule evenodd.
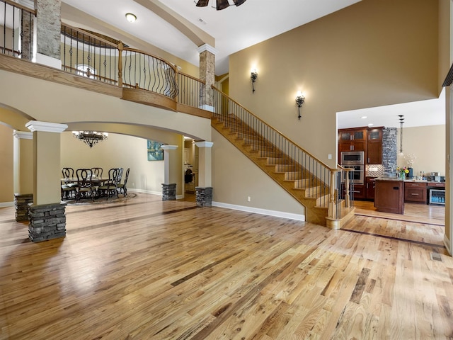
<path id="1" fill-rule="evenodd" d="M 377 211 L 404 213 L 404 181 L 375 179 L 374 206 Z"/>

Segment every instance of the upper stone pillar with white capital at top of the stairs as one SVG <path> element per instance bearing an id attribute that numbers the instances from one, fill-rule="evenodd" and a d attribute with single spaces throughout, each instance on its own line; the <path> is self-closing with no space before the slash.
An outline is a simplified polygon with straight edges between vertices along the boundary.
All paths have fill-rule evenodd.
<path id="1" fill-rule="evenodd" d="M 201 88 L 201 108 L 214 112 L 214 91 L 211 86 L 215 81 L 215 55 L 217 50 L 210 45 L 201 45 L 197 48 L 200 53 L 200 80 L 205 81 Z"/>

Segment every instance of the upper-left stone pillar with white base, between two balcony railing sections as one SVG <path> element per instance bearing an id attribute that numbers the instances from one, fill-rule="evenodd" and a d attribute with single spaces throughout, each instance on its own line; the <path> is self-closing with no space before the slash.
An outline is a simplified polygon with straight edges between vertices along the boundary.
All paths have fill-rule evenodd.
<path id="1" fill-rule="evenodd" d="M 36 62 L 57 69 L 60 60 L 61 0 L 35 0 L 36 7 Z"/>

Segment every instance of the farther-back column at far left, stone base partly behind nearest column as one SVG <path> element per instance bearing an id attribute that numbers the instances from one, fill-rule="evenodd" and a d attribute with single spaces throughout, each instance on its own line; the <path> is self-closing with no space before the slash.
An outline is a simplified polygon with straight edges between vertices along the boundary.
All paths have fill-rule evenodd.
<path id="1" fill-rule="evenodd" d="M 14 205 L 16 221 L 28 221 L 28 205 L 33 203 L 33 133 L 14 131 Z"/>

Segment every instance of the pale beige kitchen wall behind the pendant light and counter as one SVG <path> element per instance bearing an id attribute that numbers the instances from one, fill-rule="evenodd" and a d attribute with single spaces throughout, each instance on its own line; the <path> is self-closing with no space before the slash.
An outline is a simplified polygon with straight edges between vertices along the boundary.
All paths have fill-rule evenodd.
<path id="1" fill-rule="evenodd" d="M 398 128 L 398 152 L 400 141 Z M 403 156 L 398 153 L 398 166 L 407 166 L 406 158 L 413 154 L 414 176 L 420 171 L 425 174 L 440 172 L 445 176 L 445 125 L 420 126 L 417 128 L 403 128 Z"/>

